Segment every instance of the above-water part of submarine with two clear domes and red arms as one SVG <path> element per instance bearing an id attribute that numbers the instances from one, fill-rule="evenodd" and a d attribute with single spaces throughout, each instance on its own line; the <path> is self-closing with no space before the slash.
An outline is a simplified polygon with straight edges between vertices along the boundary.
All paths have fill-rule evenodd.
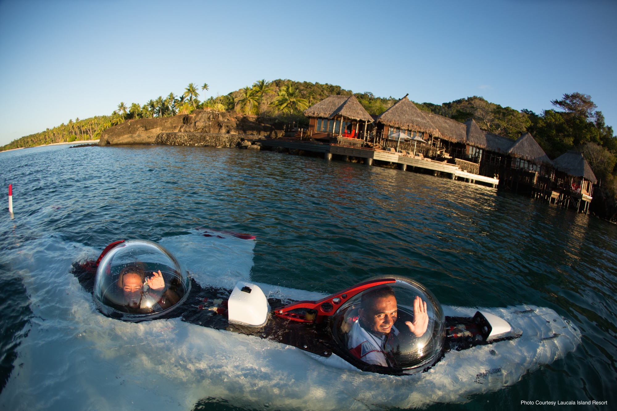
<path id="1" fill-rule="evenodd" d="M 403 276 L 376 276 L 317 301 L 268 298 L 251 281 L 233 289 L 202 286 L 165 247 L 141 239 L 115 241 L 98 259 L 74 262 L 71 272 L 107 317 L 180 318 L 294 346 L 325 365 L 362 372 L 426 372 L 449 351 L 522 336 L 489 312 L 444 315 L 429 289 Z"/>

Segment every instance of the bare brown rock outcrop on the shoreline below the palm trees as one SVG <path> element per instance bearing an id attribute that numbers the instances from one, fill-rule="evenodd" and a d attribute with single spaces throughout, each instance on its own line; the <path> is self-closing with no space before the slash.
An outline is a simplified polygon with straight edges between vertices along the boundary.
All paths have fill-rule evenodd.
<path id="1" fill-rule="evenodd" d="M 192 114 L 174 117 L 126 120 L 104 130 L 99 146 L 170 144 L 234 147 L 241 138 L 283 136 L 283 130 L 256 120 L 255 117 L 212 110 L 195 110 Z"/>

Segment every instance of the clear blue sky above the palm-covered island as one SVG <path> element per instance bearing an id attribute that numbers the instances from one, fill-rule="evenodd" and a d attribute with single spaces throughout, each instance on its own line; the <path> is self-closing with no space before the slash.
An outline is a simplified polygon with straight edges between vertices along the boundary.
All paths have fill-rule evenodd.
<path id="1" fill-rule="evenodd" d="M 3 0 L 0 145 L 188 83 L 209 97 L 262 78 L 537 113 L 579 92 L 617 128 L 616 22 L 610 0 Z"/>

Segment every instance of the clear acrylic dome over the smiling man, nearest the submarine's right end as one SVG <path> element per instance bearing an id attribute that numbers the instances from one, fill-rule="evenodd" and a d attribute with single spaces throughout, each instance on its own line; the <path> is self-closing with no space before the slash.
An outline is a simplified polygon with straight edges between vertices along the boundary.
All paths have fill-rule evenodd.
<path id="1" fill-rule="evenodd" d="M 377 371 L 385 367 L 413 373 L 433 365 L 445 339 L 441 304 L 416 281 L 376 278 L 396 282 L 366 289 L 346 301 L 333 315 L 334 338 L 352 357 Z M 417 297 L 422 307 L 426 303 L 425 311 L 414 307 Z"/>

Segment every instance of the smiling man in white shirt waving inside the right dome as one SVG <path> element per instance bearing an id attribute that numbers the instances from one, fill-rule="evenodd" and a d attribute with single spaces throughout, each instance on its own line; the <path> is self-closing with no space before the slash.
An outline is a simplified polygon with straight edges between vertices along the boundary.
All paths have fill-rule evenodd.
<path id="1" fill-rule="evenodd" d="M 370 291 L 362 296 L 358 318 L 355 319 L 347 348 L 357 359 L 382 367 L 395 365 L 399 330 L 394 326 L 398 317 L 394 289 L 389 286 Z M 416 337 L 423 336 L 428 327 L 426 302 L 416 296 L 413 301 L 413 322 L 405 325 Z"/>

